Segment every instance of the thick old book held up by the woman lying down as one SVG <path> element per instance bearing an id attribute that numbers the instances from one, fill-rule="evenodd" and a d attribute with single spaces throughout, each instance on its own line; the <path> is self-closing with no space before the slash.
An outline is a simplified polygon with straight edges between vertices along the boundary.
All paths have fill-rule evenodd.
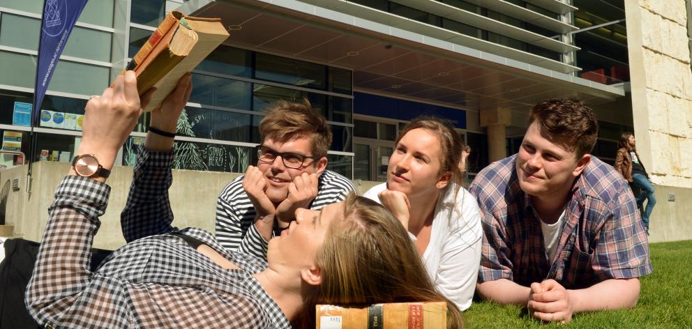
<path id="1" fill-rule="evenodd" d="M 191 17 L 171 11 L 126 68 L 135 71 L 140 95 L 156 87 L 144 111 L 160 106 L 178 80 L 228 36 L 218 18 Z"/>

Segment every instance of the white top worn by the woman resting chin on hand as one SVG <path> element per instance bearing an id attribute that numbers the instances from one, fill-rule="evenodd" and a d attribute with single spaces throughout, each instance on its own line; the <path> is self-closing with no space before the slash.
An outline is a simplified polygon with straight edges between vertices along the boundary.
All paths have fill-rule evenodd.
<path id="1" fill-rule="evenodd" d="M 476 289 L 483 229 L 476 198 L 460 188 L 454 199 L 455 188 L 456 184 L 449 184 L 437 200 L 430 242 L 422 258 L 435 288 L 465 310 Z M 386 183 L 375 185 L 363 197 L 381 204 L 377 194 L 385 189 Z"/>

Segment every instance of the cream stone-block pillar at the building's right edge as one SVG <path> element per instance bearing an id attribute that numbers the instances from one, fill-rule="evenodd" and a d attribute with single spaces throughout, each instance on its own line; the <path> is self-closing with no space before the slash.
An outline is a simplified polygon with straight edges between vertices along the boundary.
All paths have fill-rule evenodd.
<path id="1" fill-rule="evenodd" d="M 634 133 L 654 183 L 692 188 L 692 70 L 685 0 L 626 0 Z"/>

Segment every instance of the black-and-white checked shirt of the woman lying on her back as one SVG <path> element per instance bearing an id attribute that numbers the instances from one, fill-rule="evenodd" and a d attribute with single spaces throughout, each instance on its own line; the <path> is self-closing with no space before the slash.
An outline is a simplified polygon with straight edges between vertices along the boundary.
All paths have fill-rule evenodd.
<path id="1" fill-rule="evenodd" d="M 172 153 L 145 153 L 140 158 L 123 213 L 169 220 L 167 187 L 140 184 L 147 182 L 142 174 L 146 159 L 151 161 L 145 166 L 158 167 L 171 158 Z M 107 185 L 78 176 L 64 178 L 55 192 L 26 297 L 39 323 L 59 328 L 290 328 L 253 277 L 266 262 L 227 252 L 201 229 L 178 231 L 159 225 L 161 235 L 119 248 L 90 272 L 93 236 L 109 194 Z M 132 230 L 140 223 L 149 229 L 146 225 L 152 222 L 147 217 L 141 222 L 130 219 L 135 221 L 128 226 Z M 201 240 L 241 270 L 220 268 L 170 233 Z"/>

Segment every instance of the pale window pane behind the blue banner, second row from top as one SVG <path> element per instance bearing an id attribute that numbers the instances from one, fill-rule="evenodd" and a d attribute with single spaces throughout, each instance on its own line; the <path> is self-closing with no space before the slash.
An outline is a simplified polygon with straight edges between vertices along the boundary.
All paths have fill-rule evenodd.
<path id="1" fill-rule="evenodd" d="M 11 32 L 0 33 L 0 45 L 38 50 L 39 29 L 40 20 L 3 13 L 0 30 Z M 63 55 L 108 62 L 110 61 L 110 46 L 111 33 L 75 26 L 65 45 Z"/>

